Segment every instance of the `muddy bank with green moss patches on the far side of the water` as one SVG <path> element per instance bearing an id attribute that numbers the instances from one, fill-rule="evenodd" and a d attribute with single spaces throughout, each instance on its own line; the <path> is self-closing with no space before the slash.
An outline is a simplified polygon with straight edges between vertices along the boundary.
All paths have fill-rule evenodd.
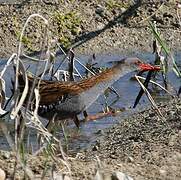
<path id="1" fill-rule="evenodd" d="M 156 22 L 159 31 L 174 51 L 180 48 L 181 9 L 175 1 L 18 1 L 0 5 L 0 56 L 16 52 L 20 32 L 32 13 L 49 20 L 51 39 L 77 53 L 109 53 L 152 51 L 147 19 Z M 23 42 L 30 51 L 40 50 L 40 20 L 29 24 Z"/>

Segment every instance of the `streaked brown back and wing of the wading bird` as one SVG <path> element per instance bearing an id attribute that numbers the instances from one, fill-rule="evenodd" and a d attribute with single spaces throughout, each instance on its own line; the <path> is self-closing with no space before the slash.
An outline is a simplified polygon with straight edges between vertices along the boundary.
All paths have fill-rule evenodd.
<path id="1" fill-rule="evenodd" d="M 92 76 L 87 79 L 83 79 L 78 82 L 63 82 L 63 81 L 48 81 L 41 80 L 39 86 L 40 93 L 40 105 L 50 105 L 54 104 L 66 97 L 67 95 L 77 95 L 80 94 L 94 85 L 106 81 L 111 77 L 113 71 L 111 69 L 106 70 L 96 76 Z M 24 86 L 22 77 L 20 79 L 21 87 Z M 33 84 L 33 77 L 28 76 L 29 87 L 31 89 Z"/>

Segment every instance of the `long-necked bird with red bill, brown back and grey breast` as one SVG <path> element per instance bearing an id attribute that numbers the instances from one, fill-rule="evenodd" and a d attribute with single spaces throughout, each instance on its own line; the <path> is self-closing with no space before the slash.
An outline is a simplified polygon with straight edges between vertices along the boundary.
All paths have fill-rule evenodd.
<path id="1" fill-rule="evenodd" d="M 73 119 L 79 126 L 77 115 L 89 108 L 104 91 L 132 71 L 159 71 L 160 67 L 143 63 L 137 57 L 128 57 L 117 61 L 111 68 L 99 74 L 79 81 L 49 81 L 41 80 L 39 84 L 39 114 L 46 114 L 48 119 Z M 23 87 L 23 79 L 20 85 Z M 32 86 L 33 77 L 28 77 L 29 86 Z M 33 102 L 33 101 L 32 101 Z M 47 113 L 42 109 L 48 109 Z"/>

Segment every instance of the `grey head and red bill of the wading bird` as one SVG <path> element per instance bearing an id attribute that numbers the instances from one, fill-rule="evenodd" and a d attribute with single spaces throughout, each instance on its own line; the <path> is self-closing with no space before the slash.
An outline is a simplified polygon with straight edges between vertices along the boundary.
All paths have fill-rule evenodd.
<path id="1" fill-rule="evenodd" d="M 138 71 L 159 71 L 159 66 L 154 66 L 149 63 L 143 63 L 139 58 L 126 58 L 123 60 L 123 63 L 126 67 L 129 67 L 132 70 Z"/>

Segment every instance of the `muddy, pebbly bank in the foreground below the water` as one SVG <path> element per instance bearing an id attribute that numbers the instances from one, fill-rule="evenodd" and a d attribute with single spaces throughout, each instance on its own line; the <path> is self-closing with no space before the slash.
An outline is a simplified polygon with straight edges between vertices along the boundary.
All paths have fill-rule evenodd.
<path id="1" fill-rule="evenodd" d="M 76 155 L 68 154 L 73 179 L 92 179 L 99 169 L 105 176 L 110 176 L 113 171 L 120 171 L 136 180 L 179 180 L 181 101 L 171 100 L 158 104 L 158 107 L 164 115 L 162 119 L 153 109 L 140 112 L 107 129 L 88 150 L 78 152 Z M 30 156 L 28 159 L 27 165 L 37 178 L 43 172 L 45 162 L 49 171 L 54 165 L 56 173 L 67 173 L 63 165 L 56 164 L 56 161 L 47 161 L 45 157 Z M 13 155 L 4 155 L 1 152 L 0 160 L 0 168 L 11 176 Z"/>

